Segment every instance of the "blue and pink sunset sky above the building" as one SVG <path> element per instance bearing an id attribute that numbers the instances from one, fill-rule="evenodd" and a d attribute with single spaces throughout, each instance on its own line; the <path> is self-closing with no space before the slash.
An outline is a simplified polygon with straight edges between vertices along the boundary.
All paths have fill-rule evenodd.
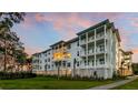
<path id="1" fill-rule="evenodd" d="M 115 23 L 121 38 L 121 47 L 132 51 L 132 62 L 138 62 L 138 13 L 128 12 L 28 12 L 24 21 L 14 24 L 26 52 L 33 54 L 49 49 L 60 40 L 69 40 L 106 19 Z"/>

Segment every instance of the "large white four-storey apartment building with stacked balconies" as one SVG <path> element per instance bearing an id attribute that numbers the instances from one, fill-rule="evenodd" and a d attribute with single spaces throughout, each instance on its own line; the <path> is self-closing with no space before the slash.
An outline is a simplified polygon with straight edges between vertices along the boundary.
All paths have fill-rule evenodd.
<path id="1" fill-rule="evenodd" d="M 111 79 L 121 68 L 120 42 L 118 29 L 107 19 L 33 54 L 33 72 Z"/>

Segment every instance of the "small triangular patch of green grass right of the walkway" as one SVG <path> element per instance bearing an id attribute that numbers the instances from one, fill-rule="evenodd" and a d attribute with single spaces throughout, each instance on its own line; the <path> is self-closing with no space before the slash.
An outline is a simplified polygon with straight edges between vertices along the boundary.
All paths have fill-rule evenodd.
<path id="1" fill-rule="evenodd" d="M 115 87 L 114 90 L 138 90 L 138 79 L 130 82 L 130 83 L 127 83 L 125 85 L 121 85 L 121 86 L 118 86 L 118 87 Z"/>

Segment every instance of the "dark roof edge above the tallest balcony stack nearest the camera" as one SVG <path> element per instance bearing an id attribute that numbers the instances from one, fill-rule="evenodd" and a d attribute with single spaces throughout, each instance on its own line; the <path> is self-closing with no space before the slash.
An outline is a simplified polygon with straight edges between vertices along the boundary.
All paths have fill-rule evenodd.
<path id="1" fill-rule="evenodd" d="M 102 25 L 102 24 L 107 24 L 107 23 L 109 23 L 109 22 L 110 22 L 109 19 L 107 19 L 107 20 L 105 20 L 105 21 L 101 21 L 101 22 L 98 23 L 98 24 L 95 24 L 95 25 L 92 25 L 92 27 L 90 27 L 90 28 L 88 28 L 88 29 L 86 29 L 86 30 L 83 30 L 83 31 L 78 32 L 77 35 L 82 34 L 82 33 L 85 33 L 85 32 L 88 32 L 89 30 L 96 29 L 96 28 L 98 28 L 98 27 L 100 27 L 100 25 Z"/>

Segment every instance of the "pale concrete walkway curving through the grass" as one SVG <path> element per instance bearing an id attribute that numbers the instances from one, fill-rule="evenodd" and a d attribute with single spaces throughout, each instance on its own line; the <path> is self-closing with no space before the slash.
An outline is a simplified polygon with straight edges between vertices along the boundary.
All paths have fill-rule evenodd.
<path id="1" fill-rule="evenodd" d="M 101 86 L 90 87 L 88 90 L 109 90 L 109 89 L 114 89 L 116 86 L 120 86 L 120 85 L 124 85 L 126 83 L 129 83 L 129 82 L 131 82 L 131 81 L 134 81 L 136 79 L 138 79 L 138 75 L 128 76 L 128 80 L 122 80 L 122 81 L 118 81 L 118 82 L 101 85 Z"/>

